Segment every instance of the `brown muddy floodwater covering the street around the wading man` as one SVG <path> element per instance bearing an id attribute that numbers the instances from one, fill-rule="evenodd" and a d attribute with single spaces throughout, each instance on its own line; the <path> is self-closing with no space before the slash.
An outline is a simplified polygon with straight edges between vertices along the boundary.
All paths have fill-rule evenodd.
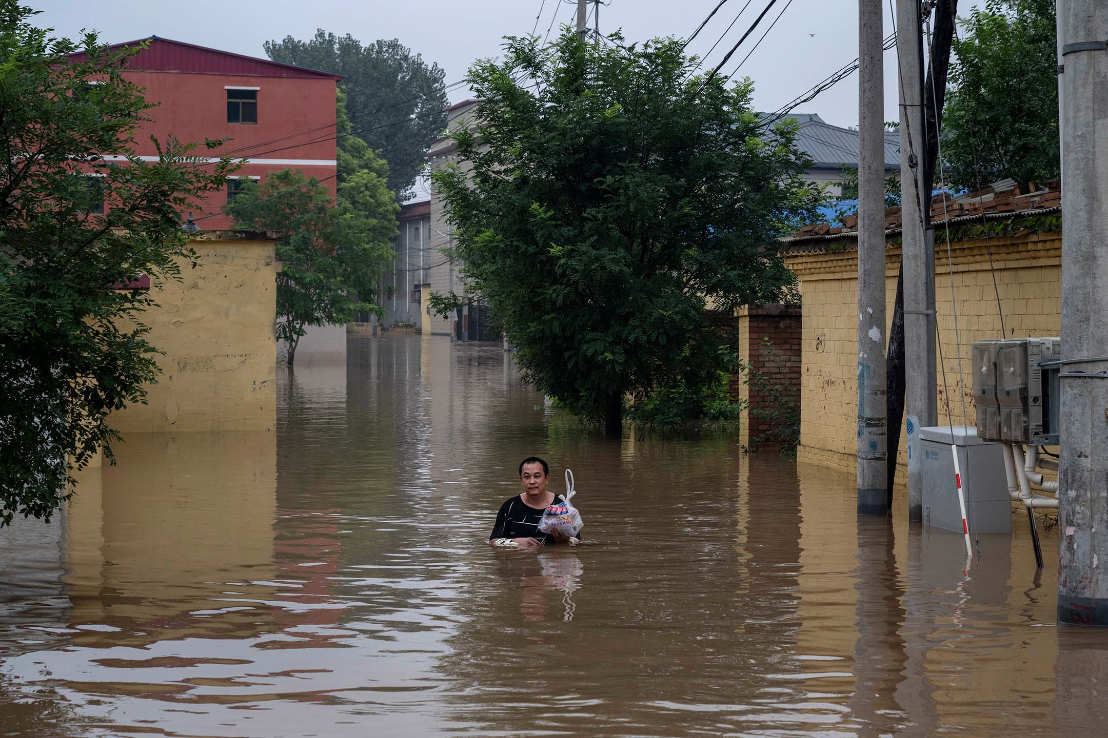
<path id="1" fill-rule="evenodd" d="M 587 544 L 490 550 L 516 464 Z M 352 341 L 276 433 L 130 436 L 0 531 L 0 735 L 1096 736 L 1108 633 L 1059 628 L 1054 533 L 854 514 L 733 440 L 611 443 L 499 347 Z"/>

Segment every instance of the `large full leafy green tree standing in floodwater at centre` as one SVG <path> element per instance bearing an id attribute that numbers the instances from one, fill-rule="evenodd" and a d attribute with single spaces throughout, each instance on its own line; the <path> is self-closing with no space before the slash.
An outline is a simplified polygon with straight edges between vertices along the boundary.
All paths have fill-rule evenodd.
<path id="1" fill-rule="evenodd" d="M 466 167 L 433 175 L 453 256 L 525 377 L 616 435 L 625 396 L 719 381 L 726 316 L 794 284 L 776 237 L 819 193 L 796 123 L 767 133 L 750 82 L 690 77 L 679 41 L 565 31 L 509 38 L 503 60 L 466 77 L 485 101 L 451 133 Z"/>

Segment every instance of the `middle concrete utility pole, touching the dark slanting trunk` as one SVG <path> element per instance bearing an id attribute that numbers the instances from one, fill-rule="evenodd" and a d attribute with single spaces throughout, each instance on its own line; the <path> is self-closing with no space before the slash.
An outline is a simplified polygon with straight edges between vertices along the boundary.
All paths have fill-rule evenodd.
<path id="1" fill-rule="evenodd" d="M 910 438 L 937 422 L 935 396 L 935 251 L 926 235 L 931 193 L 923 191 L 927 160 L 923 128 L 923 24 L 919 0 L 896 0 L 900 73 L 901 217 L 904 270 L 904 372 Z M 914 444 L 914 453 L 919 445 Z M 907 462 L 907 517 L 923 520 L 921 459 Z"/>

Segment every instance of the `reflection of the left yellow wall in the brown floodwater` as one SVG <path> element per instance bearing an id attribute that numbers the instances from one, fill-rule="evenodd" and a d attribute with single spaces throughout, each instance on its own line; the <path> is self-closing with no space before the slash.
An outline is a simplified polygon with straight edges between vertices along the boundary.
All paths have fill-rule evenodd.
<path id="1" fill-rule="evenodd" d="M 126 623 L 112 645 L 136 647 L 277 630 L 249 609 L 276 586 L 277 435 L 141 433 L 114 451 L 114 466 L 81 472 L 65 511 L 70 623 Z M 235 605 L 217 617 L 195 612 Z M 85 632 L 74 644 L 104 636 Z"/>

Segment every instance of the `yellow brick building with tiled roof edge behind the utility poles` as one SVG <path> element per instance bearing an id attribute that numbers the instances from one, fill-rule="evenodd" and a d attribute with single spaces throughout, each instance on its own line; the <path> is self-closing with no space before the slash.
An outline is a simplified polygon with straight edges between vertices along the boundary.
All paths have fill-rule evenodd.
<path id="1" fill-rule="evenodd" d="M 1004 335 L 1008 337 L 1058 335 L 1060 331 L 1058 191 L 1029 195 L 989 191 L 983 206 L 970 199 L 947 204 L 950 251 L 942 204 L 933 207 L 936 320 L 942 356 L 936 372 L 940 424 L 947 423 L 950 417 L 962 425 L 963 402 L 966 424 L 975 423 L 973 381 L 968 372 L 971 346 L 974 341 L 1001 337 L 1001 311 Z M 899 217 L 899 209 L 891 209 L 886 218 L 891 226 L 885 236 L 890 323 L 900 264 Z M 803 461 L 853 471 L 858 432 L 858 231 L 827 225 L 808 227 L 783 239 L 781 253 L 800 280 L 803 303 L 798 456 Z M 960 341 L 955 340 L 954 306 Z M 902 451 L 904 438 L 902 433 Z M 903 464 L 903 453 L 900 458 Z"/>

